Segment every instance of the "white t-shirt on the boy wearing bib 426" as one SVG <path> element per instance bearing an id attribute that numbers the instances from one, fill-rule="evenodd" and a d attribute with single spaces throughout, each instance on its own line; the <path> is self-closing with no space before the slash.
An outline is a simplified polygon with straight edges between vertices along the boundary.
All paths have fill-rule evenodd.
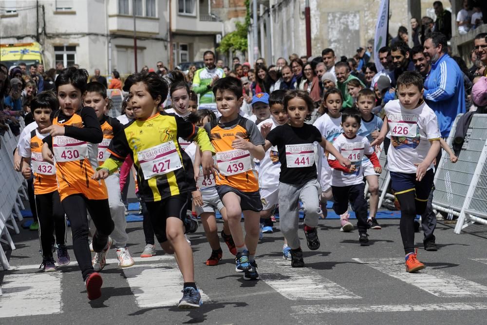
<path id="1" fill-rule="evenodd" d="M 391 172 L 415 173 L 414 164 L 421 163 L 431 148 L 429 140 L 441 138 L 436 114 L 425 102 L 407 110 L 399 99 L 389 101 L 384 110 L 391 131 L 388 168 Z"/>

